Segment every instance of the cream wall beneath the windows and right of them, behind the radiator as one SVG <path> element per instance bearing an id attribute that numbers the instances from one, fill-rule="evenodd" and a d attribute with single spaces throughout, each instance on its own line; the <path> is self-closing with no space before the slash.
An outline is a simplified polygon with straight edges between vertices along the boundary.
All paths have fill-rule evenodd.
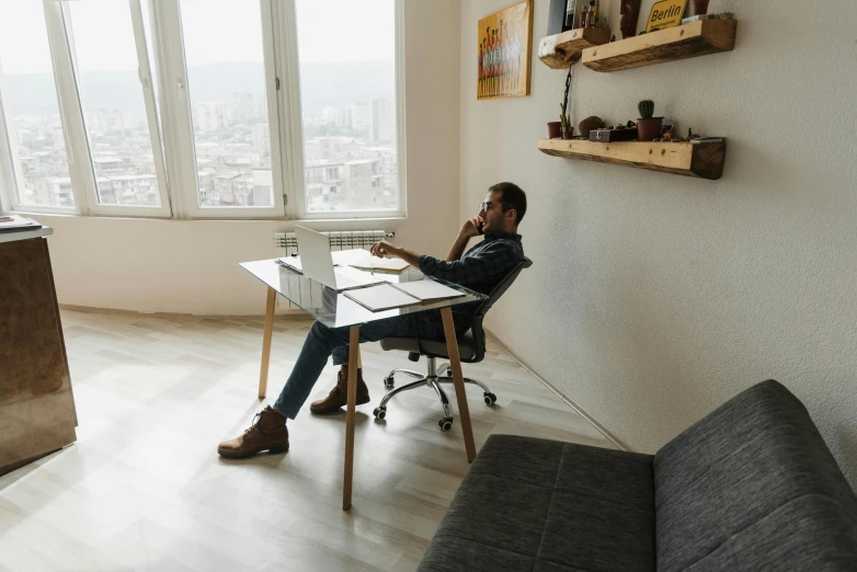
<path id="1" fill-rule="evenodd" d="M 395 230 L 396 241 L 445 254 L 457 230 L 459 3 L 405 2 L 408 219 L 313 222 L 320 230 Z M 49 239 L 59 302 L 73 306 L 258 314 L 264 286 L 238 263 L 274 256 L 285 221 L 187 221 L 36 216 Z"/>

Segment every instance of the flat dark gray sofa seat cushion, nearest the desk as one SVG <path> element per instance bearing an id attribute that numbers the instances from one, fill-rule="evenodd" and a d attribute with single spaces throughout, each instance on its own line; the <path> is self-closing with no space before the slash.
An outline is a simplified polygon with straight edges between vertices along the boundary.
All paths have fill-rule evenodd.
<path id="1" fill-rule="evenodd" d="M 652 457 L 492 435 L 420 571 L 654 570 Z"/>

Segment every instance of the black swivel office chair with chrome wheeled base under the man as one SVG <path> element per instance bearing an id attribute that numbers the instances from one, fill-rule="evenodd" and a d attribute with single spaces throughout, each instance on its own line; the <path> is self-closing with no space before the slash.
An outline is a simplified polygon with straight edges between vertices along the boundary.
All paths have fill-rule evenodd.
<path id="1" fill-rule="evenodd" d="M 533 261 L 526 256 L 517 266 L 512 268 L 512 272 L 503 278 L 503 282 L 498 284 L 489 295 L 488 299 L 483 301 L 476 313 L 473 314 L 473 323 L 462 336 L 458 339 L 458 353 L 462 363 L 477 364 L 481 362 L 485 356 L 485 332 L 482 329 L 482 319 L 485 312 L 491 309 L 494 302 L 512 286 L 521 271 L 528 268 L 533 265 Z M 449 355 L 446 352 L 446 342 L 434 342 L 428 340 L 418 340 L 416 338 L 387 338 L 381 340 L 381 350 L 389 352 L 392 350 L 408 352 L 408 358 L 411 362 L 419 362 L 420 356 L 425 356 L 427 361 L 427 368 L 425 374 L 414 371 L 412 369 L 397 368 L 390 371 L 390 375 L 384 378 L 384 387 L 390 389 L 386 396 L 381 399 L 380 404 L 375 408 L 373 412 L 375 416 L 382 420 L 387 416 L 387 402 L 392 399 L 393 396 L 408 391 L 418 387 L 428 386 L 434 389 L 437 397 L 441 399 L 441 404 L 444 408 L 444 416 L 437 424 L 443 431 L 449 431 L 453 427 L 453 416 L 449 413 L 449 398 L 446 397 L 446 392 L 441 387 L 441 384 L 453 382 L 453 368 L 449 364 L 444 364 L 438 369 L 436 367 L 436 359 L 448 359 Z M 445 371 L 445 376 L 438 376 L 437 371 Z M 415 377 L 415 381 L 405 384 L 401 387 L 395 387 L 393 377 L 396 374 L 405 374 L 411 377 Z M 493 405 L 496 402 L 496 396 L 482 381 L 478 379 L 465 378 L 465 384 L 472 384 L 482 388 L 484 392 L 484 401 L 487 405 Z"/>

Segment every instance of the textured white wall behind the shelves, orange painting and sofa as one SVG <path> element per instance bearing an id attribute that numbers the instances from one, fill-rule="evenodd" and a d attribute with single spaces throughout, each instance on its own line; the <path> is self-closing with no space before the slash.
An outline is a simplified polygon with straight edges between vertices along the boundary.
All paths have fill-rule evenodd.
<path id="1" fill-rule="evenodd" d="M 776 378 L 857 485 L 853 2 L 712 0 L 740 20 L 732 53 L 616 73 L 575 67 L 575 125 L 636 118 L 652 99 L 683 133 L 728 138 L 715 182 L 536 150 L 565 80 L 536 57 L 548 0 L 535 2 L 532 96 L 478 102 L 477 21 L 510 3 L 461 4 L 459 219 L 498 181 L 529 197 L 522 233 L 535 264 L 489 328 L 642 451 Z M 618 2 L 602 5 L 618 33 Z"/>

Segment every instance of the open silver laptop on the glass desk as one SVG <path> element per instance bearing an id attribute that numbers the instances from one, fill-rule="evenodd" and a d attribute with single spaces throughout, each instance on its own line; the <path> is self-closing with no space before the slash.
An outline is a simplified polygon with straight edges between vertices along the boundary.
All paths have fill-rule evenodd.
<path id="1" fill-rule="evenodd" d="M 321 232 L 295 227 L 295 237 L 300 252 L 300 270 L 304 276 L 310 279 L 320 282 L 336 291 L 389 282 L 350 266 L 334 266 L 333 255 L 330 253 L 330 239 Z"/>

